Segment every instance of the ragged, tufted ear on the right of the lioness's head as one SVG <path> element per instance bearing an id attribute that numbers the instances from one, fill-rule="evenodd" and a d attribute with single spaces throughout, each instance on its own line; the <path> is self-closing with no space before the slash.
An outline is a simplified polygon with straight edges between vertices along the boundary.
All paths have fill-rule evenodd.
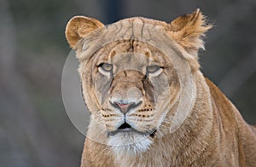
<path id="1" fill-rule="evenodd" d="M 190 55 L 197 55 L 198 49 L 204 49 L 201 37 L 204 37 L 211 27 L 200 9 L 196 9 L 192 14 L 172 20 L 170 34 Z"/>

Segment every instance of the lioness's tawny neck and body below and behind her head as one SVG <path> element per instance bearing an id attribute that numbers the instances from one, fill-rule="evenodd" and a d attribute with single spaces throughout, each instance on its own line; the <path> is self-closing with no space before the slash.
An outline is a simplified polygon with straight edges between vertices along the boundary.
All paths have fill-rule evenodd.
<path id="1" fill-rule="evenodd" d="M 154 141 L 147 153 L 115 162 L 110 147 L 85 140 L 84 166 L 255 166 L 256 130 L 210 80 L 198 73 L 198 100 L 174 134 Z M 207 101 L 212 101 L 208 103 Z M 83 166 L 83 165 L 82 165 Z"/>

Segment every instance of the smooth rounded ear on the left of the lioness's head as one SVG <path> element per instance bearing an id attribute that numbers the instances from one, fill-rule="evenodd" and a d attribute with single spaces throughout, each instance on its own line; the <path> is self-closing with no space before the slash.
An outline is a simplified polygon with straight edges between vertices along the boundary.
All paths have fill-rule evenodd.
<path id="1" fill-rule="evenodd" d="M 102 26 L 104 25 L 99 20 L 84 16 L 74 16 L 66 26 L 67 42 L 74 49 L 74 46 L 82 37 Z"/>

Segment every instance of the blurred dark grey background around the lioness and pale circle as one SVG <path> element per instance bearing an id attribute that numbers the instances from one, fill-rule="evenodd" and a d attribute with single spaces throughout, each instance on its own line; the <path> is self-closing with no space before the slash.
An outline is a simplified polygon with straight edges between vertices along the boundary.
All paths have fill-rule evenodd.
<path id="1" fill-rule="evenodd" d="M 255 0 L 0 0 L 0 166 L 79 166 L 84 135 L 69 121 L 61 72 L 77 14 L 113 21 L 144 16 L 172 21 L 200 8 L 215 27 L 201 70 L 250 124 L 256 124 Z"/>

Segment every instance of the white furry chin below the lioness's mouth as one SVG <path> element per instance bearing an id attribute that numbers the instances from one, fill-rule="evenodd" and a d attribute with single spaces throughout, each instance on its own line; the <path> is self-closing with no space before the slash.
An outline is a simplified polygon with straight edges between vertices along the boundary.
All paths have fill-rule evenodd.
<path id="1" fill-rule="evenodd" d="M 115 135 L 109 135 L 108 145 L 111 146 L 113 153 L 122 158 L 128 155 L 136 155 L 148 150 L 152 141 L 148 135 L 137 132 L 118 132 Z"/>

